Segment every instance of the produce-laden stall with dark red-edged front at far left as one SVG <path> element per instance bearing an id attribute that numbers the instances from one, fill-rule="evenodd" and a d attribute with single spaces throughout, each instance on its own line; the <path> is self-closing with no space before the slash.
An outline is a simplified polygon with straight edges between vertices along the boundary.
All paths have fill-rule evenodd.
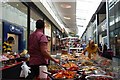
<path id="1" fill-rule="evenodd" d="M 19 79 L 20 72 L 21 72 L 21 65 L 23 61 L 27 61 L 28 58 L 25 57 L 27 51 L 24 50 L 22 53 L 3 53 L 0 55 L 0 72 L 1 72 L 1 79 Z"/>

